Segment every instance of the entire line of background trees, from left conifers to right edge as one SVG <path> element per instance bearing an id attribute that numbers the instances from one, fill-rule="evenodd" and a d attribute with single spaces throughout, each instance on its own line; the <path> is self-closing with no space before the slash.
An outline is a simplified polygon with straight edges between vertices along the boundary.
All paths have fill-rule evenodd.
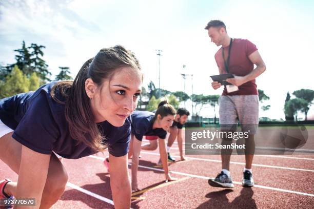
<path id="1" fill-rule="evenodd" d="M 26 46 L 25 41 L 22 41 L 22 48 L 14 50 L 15 62 L 13 64 L 0 65 L 0 98 L 9 97 L 18 93 L 27 91 L 34 91 L 41 85 L 52 81 L 49 65 L 43 59 L 44 57 L 43 45 L 31 44 Z M 72 77 L 69 67 L 59 67 L 58 73 L 53 80 L 70 80 Z M 156 88 L 154 83 L 150 81 L 147 90 L 143 87 L 142 94 L 139 98 L 138 108 L 148 111 L 153 111 L 158 107 L 161 99 L 167 98 L 169 103 L 174 108 L 178 109 L 180 102 L 191 100 L 192 109 L 195 116 L 200 115 L 201 110 L 205 105 L 209 104 L 214 109 L 214 122 L 216 122 L 215 110 L 218 106 L 219 95 L 203 95 L 192 94 L 187 95 L 185 92 L 176 91 L 170 92 L 165 89 Z M 264 101 L 269 100 L 269 97 L 263 90 L 259 91 L 259 100 L 262 104 L 261 109 L 267 111 L 270 105 L 264 105 Z M 307 113 L 310 106 L 313 104 L 314 91 L 310 89 L 301 89 L 294 91 L 291 98 L 289 92 L 287 93 L 284 103 L 284 113 L 286 120 L 298 120 L 298 112 L 305 114 L 307 120 Z"/>

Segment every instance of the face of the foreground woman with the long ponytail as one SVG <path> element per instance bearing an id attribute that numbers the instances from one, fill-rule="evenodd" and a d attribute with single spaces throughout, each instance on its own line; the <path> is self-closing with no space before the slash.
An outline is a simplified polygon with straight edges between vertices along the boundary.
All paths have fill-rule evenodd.
<path id="1" fill-rule="evenodd" d="M 102 86 L 97 86 L 88 78 L 85 89 L 91 98 L 95 122 L 107 120 L 112 126 L 121 127 L 138 104 L 138 96 L 142 91 L 142 74 L 131 67 L 122 67 L 105 79 Z"/>

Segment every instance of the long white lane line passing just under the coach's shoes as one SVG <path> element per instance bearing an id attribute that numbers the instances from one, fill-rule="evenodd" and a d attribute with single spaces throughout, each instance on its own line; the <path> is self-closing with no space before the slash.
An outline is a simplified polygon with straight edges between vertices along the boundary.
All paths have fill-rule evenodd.
<path id="1" fill-rule="evenodd" d="M 100 160 L 104 160 L 105 158 L 102 157 L 95 157 L 95 156 L 89 156 L 91 158 L 96 158 L 96 159 L 100 159 Z M 129 165 L 131 165 L 131 163 L 128 163 Z M 143 169 L 148 169 L 148 170 L 153 170 L 153 171 L 161 171 L 164 172 L 163 169 L 156 169 L 156 168 L 151 168 L 148 166 L 144 166 L 144 165 L 139 165 L 140 168 Z M 187 174 L 187 173 L 182 173 L 182 172 L 176 172 L 176 171 L 170 171 L 170 173 L 173 174 L 178 174 L 178 175 L 182 175 L 182 176 L 189 176 L 189 177 L 195 177 L 195 178 L 200 178 L 200 179 L 209 179 L 210 177 L 206 177 L 206 176 L 200 176 L 200 175 L 194 175 L 194 174 Z M 239 184 L 242 185 L 241 182 L 239 181 L 233 181 L 233 183 L 235 184 Z M 284 190 L 284 189 L 280 189 L 280 188 L 276 188 L 276 187 L 270 187 L 270 186 L 263 186 L 263 185 L 257 185 L 255 184 L 254 187 L 259 187 L 262 189 L 266 189 L 266 190 L 274 190 L 274 191 L 279 191 L 279 192 L 286 192 L 286 193 L 292 193 L 292 194 L 297 194 L 297 195 L 305 195 L 305 196 L 310 196 L 310 197 L 314 197 L 314 194 L 309 194 L 309 193 L 303 193 L 303 192 L 297 192 L 297 191 L 292 191 L 292 190 Z"/>

